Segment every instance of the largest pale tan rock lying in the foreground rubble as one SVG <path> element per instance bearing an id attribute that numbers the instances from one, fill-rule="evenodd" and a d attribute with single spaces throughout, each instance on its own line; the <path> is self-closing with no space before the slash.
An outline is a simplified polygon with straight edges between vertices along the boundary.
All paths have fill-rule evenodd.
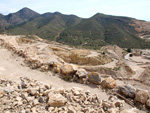
<path id="1" fill-rule="evenodd" d="M 48 98 L 48 104 L 51 107 L 61 107 L 67 102 L 67 99 L 64 98 L 61 94 L 49 93 Z"/>

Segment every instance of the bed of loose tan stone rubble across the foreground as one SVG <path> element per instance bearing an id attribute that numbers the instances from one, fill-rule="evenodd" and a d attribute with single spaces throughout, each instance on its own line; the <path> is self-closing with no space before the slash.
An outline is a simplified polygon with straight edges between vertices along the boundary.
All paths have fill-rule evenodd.
<path id="1" fill-rule="evenodd" d="M 55 89 L 29 78 L 16 83 L 0 79 L 1 113 L 117 113 L 124 102 L 112 97 L 101 100 L 98 95 L 81 88 Z"/>

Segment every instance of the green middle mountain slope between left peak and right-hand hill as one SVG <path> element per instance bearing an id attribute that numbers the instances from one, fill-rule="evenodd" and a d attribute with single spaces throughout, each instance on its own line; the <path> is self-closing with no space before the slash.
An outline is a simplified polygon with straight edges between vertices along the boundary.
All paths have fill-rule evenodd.
<path id="1" fill-rule="evenodd" d="M 63 30 L 77 25 L 81 20 L 74 15 L 63 15 L 58 12 L 45 13 L 8 31 L 11 34 L 35 34 L 42 38 L 55 40 Z"/>

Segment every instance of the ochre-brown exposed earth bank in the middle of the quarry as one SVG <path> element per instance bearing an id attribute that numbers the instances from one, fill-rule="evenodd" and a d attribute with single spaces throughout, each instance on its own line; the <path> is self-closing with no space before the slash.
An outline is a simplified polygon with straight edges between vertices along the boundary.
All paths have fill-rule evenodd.
<path id="1" fill-rule="evenodd" d="M 100 65 L 112 61 L 107 55 L 96 52 L 93 55 L 90 51 L 83 49 L 56 51 L 56 54 L 64 61 L 78 65 Z"/>

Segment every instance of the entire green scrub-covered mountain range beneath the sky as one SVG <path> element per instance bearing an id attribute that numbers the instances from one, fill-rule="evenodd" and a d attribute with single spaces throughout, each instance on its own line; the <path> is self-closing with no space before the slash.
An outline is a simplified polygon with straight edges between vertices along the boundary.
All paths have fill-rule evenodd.
<path id="1" fill-rule="evenodd" d="M 59 12 L 38 14 L 28 8 L 6 16 L 0 14 L 1 33 L 34 34 L 68 45 L 92 49 L 108 44 L 125 48 L 150 48 L 150 42 L 140 38 L 150 34 L 150 24 L 147 23 L 101 13 L 88 19 Z"/>

